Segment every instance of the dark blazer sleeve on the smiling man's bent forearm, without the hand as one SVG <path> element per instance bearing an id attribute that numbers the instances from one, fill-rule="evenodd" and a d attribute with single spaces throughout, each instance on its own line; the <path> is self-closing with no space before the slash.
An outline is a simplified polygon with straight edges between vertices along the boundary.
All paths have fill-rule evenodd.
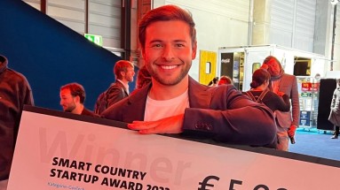
<path id="1" fill-rule="evenodd" d="M 184 133 L 233 144 L 264 146 L 276 138 L 272 111 L 265 105 L 233 110 L 186 109 Z"/>

